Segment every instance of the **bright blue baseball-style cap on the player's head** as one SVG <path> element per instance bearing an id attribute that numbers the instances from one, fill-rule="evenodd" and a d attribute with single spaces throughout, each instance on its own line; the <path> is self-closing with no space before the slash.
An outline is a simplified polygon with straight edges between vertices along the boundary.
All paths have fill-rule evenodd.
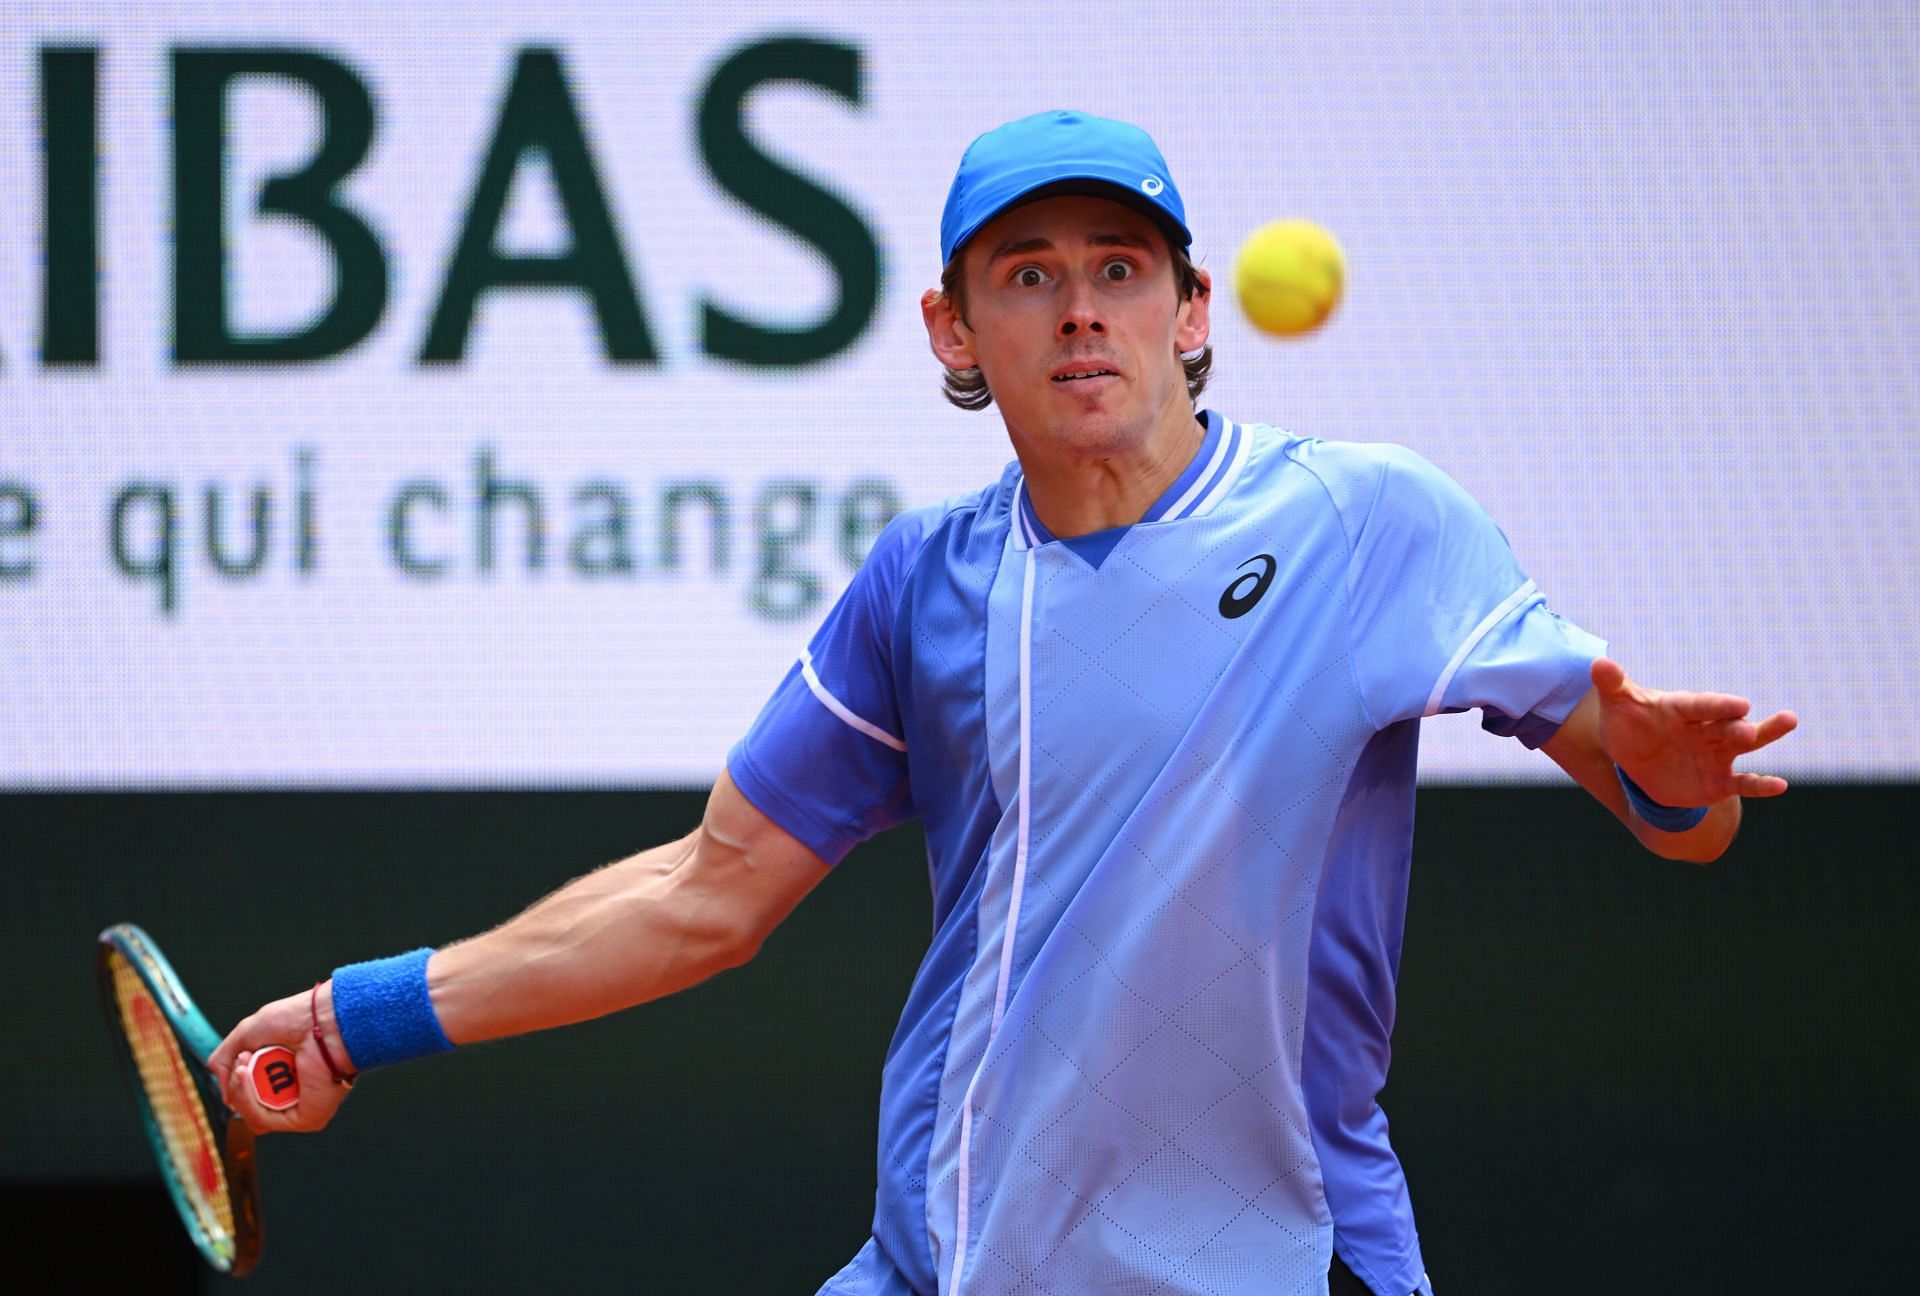
<path id="1" fill-rule="evenodd" d="M 941 213 L 941 261 L 1008 207 L 1046 194 L 1098 194 L 1139 207 L 1190 248 L 1187 204 L 1167 159 L 1139 127 L 1054 109 L 989 131 L 960 156 Z"/>

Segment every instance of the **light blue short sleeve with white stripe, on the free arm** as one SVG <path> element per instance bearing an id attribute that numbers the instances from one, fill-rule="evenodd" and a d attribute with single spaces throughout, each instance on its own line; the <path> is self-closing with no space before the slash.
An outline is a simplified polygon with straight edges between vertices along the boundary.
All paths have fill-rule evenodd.
<path id="1" fill-rule="evenodd" d="M 1588 689 L 1601 639 L 1561 618 L 1473 495 L 1398 445 L 1354 492 L 1348 595 L 1354 668 L 1379 728 L 1482 708 L 1538 747 Z"/>

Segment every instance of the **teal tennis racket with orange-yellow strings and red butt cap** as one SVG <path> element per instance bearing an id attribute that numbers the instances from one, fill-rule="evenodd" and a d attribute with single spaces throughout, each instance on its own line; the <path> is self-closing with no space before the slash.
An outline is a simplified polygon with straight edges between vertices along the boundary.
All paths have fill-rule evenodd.
<path id="1" fill-rule="evenodd" d="M 219 1031 L 186 996 L 154 939 L 131 922 L 102 931 L 98 954 L 100 993 L 132 1068 L 140 1123 L 186 1235 L 219 1273 L 250 1273 L 261 1246 L 259 1177 L 253 1133 L 207 1069 Z M 248 1083 L 267 1106 L 300 1100 L 286 1048 L 253 1054 Z"/>

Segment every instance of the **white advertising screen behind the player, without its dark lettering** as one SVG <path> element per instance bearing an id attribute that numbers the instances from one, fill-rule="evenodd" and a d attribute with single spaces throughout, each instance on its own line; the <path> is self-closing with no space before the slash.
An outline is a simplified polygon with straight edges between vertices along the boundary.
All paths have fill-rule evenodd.
<path id="1" fill-rule="evenodd" d="M 1768 770 L 1920 772 L 1912 6 L 434 8 L 0 15 L 0 785 L 712 778 L 845 586 L 849 492 L 922 503 L 1008 459 L 993 415 L 941 401 L 918 294 L 939 275 L 960 152 L 1058 106 L 1158 138 L 1221 284 L 1240 238 L 1275 217 L 1311 217 L 1346 246 L 1348 300 L 1321 334 L 1279 344 L 1215 311 L 1208 405 L 1413 445 L 1636 676 L 1797 708 L 1803 730 Z M 716 65 L 791 35 L 852 48 L 858 102 L 768 84 L 747 131 L 860 217 L 881 286 L 851 346 L 766 371 L 703 351 L 701 300 L 803 324 L 837 278 L 728 196 L 695 113 Z M 100 361 L 50 367 L 38 54 L 75 44 L 100 67 Z M 169 52 L 202 46 L 321 52 L 372 96 L 372 148 L 342 200 L 376 232 L 390 296 L 342 355 L 171 359 Z M 461 363 L 417 361 L 530 46 L 566 69 L 659 363 L 609 363 L 584 294 L 511 288 L 480 300 Z M 319 100 L 255 79 L 230 113 L 236 323 L 292 332 L 326 307 L 334 263 L 255 200 L 313 156 Z M 568 238 L 534 154 L 497 248 Z M 538 570 L 511 501 L 495 570 L 480 570 L 480 455 L 540 495 Z M 726 505 L 726 553 L 697 505 L 668 570 L 676 482 Z M 812 492 L 810 522 L 787 482 Z M 269 490 L 255 574 L 213 570 L 209 484 L 228 557 L 248 553 L 250 499 Z M 445 563 L 438 576 L 396 561 L 409 484 L 444 492 L 409 532 Z M 586 484 L 599 493 L 582 505 Z M 576 532 L 614 495 L 632 568 L 582 572 Z M 764 540 L 781 528 L 797 538 Z M 797 578 L 818 597 L 795 597 Z M 1549 776 L 1471 718 L 1428 726 L 1423 770 Z"/>

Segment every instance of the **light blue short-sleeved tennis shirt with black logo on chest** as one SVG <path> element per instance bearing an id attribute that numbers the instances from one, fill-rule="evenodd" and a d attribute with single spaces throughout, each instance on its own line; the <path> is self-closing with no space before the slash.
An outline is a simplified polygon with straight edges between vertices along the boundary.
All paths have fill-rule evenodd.
<path id="1" fill-rule="evenodd" d="M 920 816 L 933 943 L 874 1236 L 822 1292 L 1425 1290 L 1386 1083 L 1421 716 L 1538 745 L 1603 643 L 1394 445 L 1202 415 L 1129 528 L 1018 465 L 900 515 L 747 737 L 837 862 Z"/>

